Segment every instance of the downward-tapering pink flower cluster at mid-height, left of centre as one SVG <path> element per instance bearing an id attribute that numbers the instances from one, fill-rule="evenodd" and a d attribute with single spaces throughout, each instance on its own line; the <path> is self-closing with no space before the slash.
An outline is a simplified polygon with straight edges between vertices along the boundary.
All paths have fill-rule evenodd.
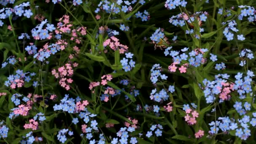
<path id="1" fill-rule="evenodd" d="M 56 78 L 59 78 L 59 85 L 61 85 L 61 87 L 64 87 L 66 90 L 70 89 L 70 85 L 73 80 L 72 80 L 72 75 L 74 74 L 74 70 L 73 67 L 77 67 L 78 64 L 65 64 L 62 67 L 58 68 L 58 71 L 56 71 L 56 69 L 53 69 L 51 71 L 52 75 L 54 75 Z"/>

